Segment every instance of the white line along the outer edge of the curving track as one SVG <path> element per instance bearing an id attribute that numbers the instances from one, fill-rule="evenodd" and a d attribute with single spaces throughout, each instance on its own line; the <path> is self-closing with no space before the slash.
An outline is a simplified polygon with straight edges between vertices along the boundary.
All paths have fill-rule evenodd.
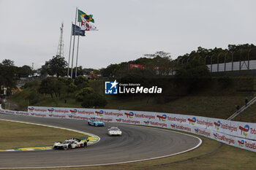
<path id="1" fill-rule="evenodd" d="M 143 127 L 143 126 L 142 126 Z M 154 127 L 143 127 L 143 128 L 154 128 Z M 159 128 L 159 130 L 162 130 L 162 131 L 170 131 L 170 130 L 167 130 L 167 129 L 162 129 L 162 128 Z M 177 134 L 183 134 L 181 132 L 178 132 L 178 131 L 172 131 L 174 133 L 177 133 Z M 184 152 L 189 152 L 191 150 L 195 150 L 197 147 L 200 147 L 200 145 L 203 143 L 202 139 L 200 139 L 199 137 L 197 136 L 193 136 L 193 135 L 190 135 L 190 134 L 183 134 L 183 135 L 187 135 L 187 136 L 192 136 L 196 139 L 199 140 L 199 143 L 195 146 L 195 147 L 192 147 L 188 150 L 184 150 L 184 151 L 181 151 L 181 152 L 176 152 L 176 153 L 173 153 L 173 154 L 170 154 L 170 155 L 163 155 L 163 156 L 159 156 L 159 157 L 154 157 L 154 158 L 146 158 L 146 159 L 140 159 L 140 160 L 134 160 L 134 161 L 123 161 L 123 162 L 117 162 L 117 163 L 99 163 L 99 164 L 91 164 L 91 165 L 80 165 L 80 166 L 41 166 L 41 167 L 18 167 L 18 168 L 0 168 L 0 169 L 58 169 L 58 168 L 79 168 L 79 167 L 88 167 L 88 166 L 108 166 L 108 165 L 116 165 L 116 164 L 121 164 L 121 163 L 135 163 L 135 162 L 140 162 L 140 161 L 151 161 L 151 160 L 154 160 L 154 159 L 159 159 L 159 158 L 166 158 L 166 157 L 169 157 L 169 156 L 174 156 L 174 155 L 178 155 L 178 154 L 181 154 L 181 153 L 184 153 Z"/>

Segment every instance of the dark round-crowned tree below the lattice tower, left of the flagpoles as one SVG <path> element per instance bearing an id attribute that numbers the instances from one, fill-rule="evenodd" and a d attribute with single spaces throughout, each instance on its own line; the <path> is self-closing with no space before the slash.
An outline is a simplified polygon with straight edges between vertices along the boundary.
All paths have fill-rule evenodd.
<path id="1" fill-rule="evenodd" d="M 50 61 L 45 62 L 45 67 L 49 75 L 64 76 L 66 75 L 65 67 L 67 66 L 67 61 L 64 57 L 59 55 L 53 56 Z"/>

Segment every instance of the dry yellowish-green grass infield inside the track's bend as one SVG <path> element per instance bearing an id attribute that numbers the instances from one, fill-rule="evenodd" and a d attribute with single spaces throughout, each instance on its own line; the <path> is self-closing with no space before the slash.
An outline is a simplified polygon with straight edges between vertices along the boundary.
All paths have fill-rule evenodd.
<path id="1" fill-rule="evenodd" d="M 59 128 L 0 120 L 0 150 L 16 147 L 48 146 L 57 141 L 63 142 L 71 137 L 81 138 L 86 136 Z"/>

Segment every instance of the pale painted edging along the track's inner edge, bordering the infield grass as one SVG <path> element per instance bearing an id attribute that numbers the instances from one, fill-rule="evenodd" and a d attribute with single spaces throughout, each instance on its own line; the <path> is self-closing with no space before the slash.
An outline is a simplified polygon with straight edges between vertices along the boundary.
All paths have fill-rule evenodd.
<path id="1" fill-rule="evenodd" d="M 62 129 L 62 130 L 67 130 L 67 131 L 74 131 L 74 132 L 77 132 L 79 134 L 85 134 L 91 138 L 93 138 L 94 140 L 91 140 L 89 142 L 89 145 L 91 144 L 96 144 L 97 142 L 99 142 L 100 138 L 99 136 L 97 135 L 94 135 L 94 134 L 89 134 L 87 132 L 84 132 L 84 131 L 78 131 L 78 130 L 74 130 L 74 129 L 71 129 L 71 128 L 61 128 L 61 127 L 58 127 L 58 126 L 54 126 L 54 125 L 43 125 L 43 124 L 39 124 L 39 123 L 28 123 L 28 122 L 22 122 L 22 121 L 17 121 L 17 120 L 7 120 L 7 119 L 0 119 L 0 120 L 4 120 L 4 121 L 7 121 L 7 122 L 14 122 L 14 123 L 25 123 L 25 124 L 30 124 L 30 125 L 41 125 L 41 126 L 45 126 L 45 127 L 48 127 L 48 128 L 59 128 L 59 129 Z M 32 147 L 34 148 L 34 147 Z M 17 150 L 0 150 L 0 152 L 10 152 L 10 151 L 32 151 L 34 149 L 32 148 L 28 148 L 26 150 L 18 150 L 18 149 L 22 149 L 22 147 L 18 148 Z M 51 148 L 45 148 L 45 149 L 40 149 L 40 150 L 51 150 Z"/>

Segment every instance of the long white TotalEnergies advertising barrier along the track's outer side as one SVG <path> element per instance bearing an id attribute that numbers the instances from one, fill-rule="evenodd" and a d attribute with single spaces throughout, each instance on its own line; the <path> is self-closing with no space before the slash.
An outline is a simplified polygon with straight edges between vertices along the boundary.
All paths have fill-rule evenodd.
<path id="1" fill-rule="evenodd" d="M 90 117 L 98 117 L 98 119 L 103 122 L 129 123 L 134 125 L 170 128 L 177 131 L 198 134 L 234 147 L 256 152 L 256 123 L 236 122 L 193 115 L 116 109 L 31 106 L 28 107 L 27 112 L 1 108 L 0 112 L 10 115 L 54 117 L 75 120 L 88 120 Z"/>

